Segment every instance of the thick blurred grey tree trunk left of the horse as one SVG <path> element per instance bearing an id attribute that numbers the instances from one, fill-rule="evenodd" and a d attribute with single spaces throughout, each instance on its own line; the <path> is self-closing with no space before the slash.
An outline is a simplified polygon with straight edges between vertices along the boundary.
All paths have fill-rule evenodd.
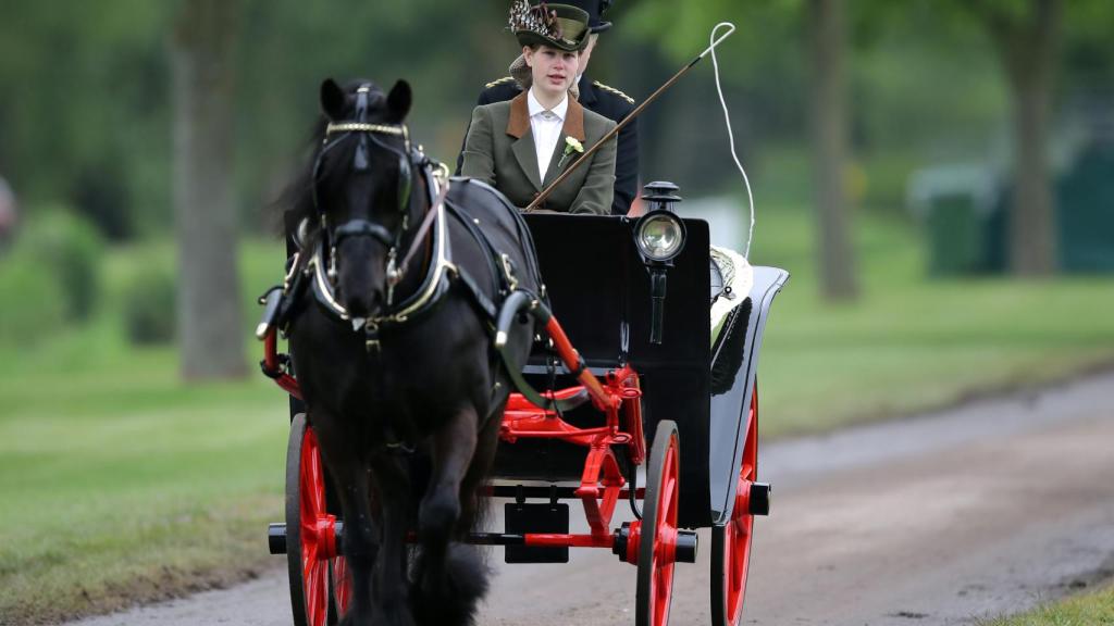
<path id="1" fill-rule="evenodd" d="M 247 371 L 231 176 L 236 6 L 184 0 L 172 46 L 177 315 L 186 379 Z"/>

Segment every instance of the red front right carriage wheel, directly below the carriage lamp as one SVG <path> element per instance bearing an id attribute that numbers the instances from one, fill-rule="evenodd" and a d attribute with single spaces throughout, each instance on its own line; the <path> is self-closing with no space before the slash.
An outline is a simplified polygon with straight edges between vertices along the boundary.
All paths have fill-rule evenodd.
<path id="1" fill-rule="evenodd" d="M 657 423 L 646 470 L 646 498 L 638 539 L 638 587 L 635 624 L 665 626 L 673 599 L 673 567 L 677 538 L 677 496 L 681 452 L 677 424 Z"/>

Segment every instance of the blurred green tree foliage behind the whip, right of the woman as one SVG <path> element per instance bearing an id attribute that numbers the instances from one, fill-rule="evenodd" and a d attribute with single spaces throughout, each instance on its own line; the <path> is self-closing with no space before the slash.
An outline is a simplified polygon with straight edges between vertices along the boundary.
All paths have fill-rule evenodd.
<path id="1" fill-rule="evenodd" d="M 593 71 L 644 98 L 709 45 L 716 23 L 734 23 L 739 30 L 717 48 L 720 74 L 736 149 L 754 175 L 761 148 L 802 138 L 807 99 L 801 91 L 808 79 L 800 7 L 800 0 L 619 2 L 608 13 L 615 27 L 602 39 L 603 51 L 593 56 Z M 705 58 L 643 113 L 643 177 L 668 177 L 688 194 L 722 193 L 729 182 L 740 190 L 725 130 Z"/>

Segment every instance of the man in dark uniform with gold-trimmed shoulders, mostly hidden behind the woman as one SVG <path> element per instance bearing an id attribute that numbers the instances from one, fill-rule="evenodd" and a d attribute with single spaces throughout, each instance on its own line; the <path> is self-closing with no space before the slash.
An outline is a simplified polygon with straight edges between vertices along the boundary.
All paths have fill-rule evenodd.
<path id="1" fill-rule="evenodd" d="M 579 88 L 578 101 L 588 110 L 613 119 L 622 121 L 634 110 L 634 98 L 623 91 L 608 87 L 598 80 L 588 78 L 586 71 L 592 52 L 596 47 L 599 33 L 609 29 L 612 22 L 602 21 L 600 14 L 607 10 L 612 0 L 560 0 L 564 4 L 579 7 L 587 11 L 589 20 L 588 47 L 580 52 L 580 79 L 577 84 Z M 511 100 L 521 92 L 518 82 L 507 76 L 498 80 L 492 80 L 483 86 L 477 105 L 489 105 Z M 467 134 L 466 134 L 467 135 Z M 460 173 L 460 165 L 463 155 L 457 159 L 457 174 Z M 615 159 L 615 195 L 612 202 L 612 215 L 626 215 L 631 209 L 631 203 L 638 192 L 638 120 L 632 120 L 619 131 L 618 151 Z"/>

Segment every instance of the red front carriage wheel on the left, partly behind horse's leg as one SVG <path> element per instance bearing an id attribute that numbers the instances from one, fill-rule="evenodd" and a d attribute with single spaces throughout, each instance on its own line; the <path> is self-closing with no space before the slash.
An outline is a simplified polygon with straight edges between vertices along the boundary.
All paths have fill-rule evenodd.
<path id="1" fill-rule="evenodd" d="M 295 626 L 325 626 L 329 565 L 336 554 L 335 519 L 325 511 L 325 476 L 317 438 L 294 415 L 286 447 L 286 563 Z"/>

